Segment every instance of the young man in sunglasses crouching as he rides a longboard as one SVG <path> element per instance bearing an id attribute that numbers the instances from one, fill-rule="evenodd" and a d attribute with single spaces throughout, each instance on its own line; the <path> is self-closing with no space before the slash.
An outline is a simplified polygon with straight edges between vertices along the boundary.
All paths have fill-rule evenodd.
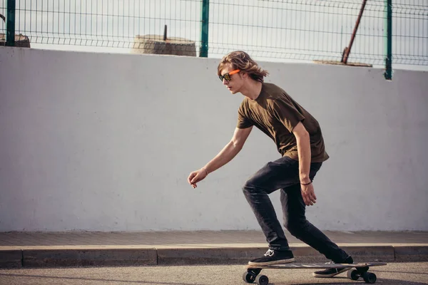
<path id="1" fill-rule="evenodd" d="M 230 162 L 243 148 L 255 126 L 272 138 L 282 157 L 267 162 L 243 186 L 245 198 L 269 244 L 263 257 L 250 260 L 248 264 L 265 266 L 295 261 L 268 197 L 279 189 L 284 226 L 290 234 L 334 263 L 353 263 L 352 257 L 305 217 L 305 207 L 315 204 L 317 199 L 312 180 L 322 162 L 328 159 L 320 125 L 284 90 L 265 83 L 267 74 L 243 51 L 233 51 L 220 61 L 218 76 L 223 85 L 230 93 L 239 92 L 245 98 L 238 110 L 232 140 L 207 165 L 191 172 L 188 182 L 195 188 L 210 172 Z M 326 269 L 314 272 L 314 276 L 331 277 L 346 270 Z"/>

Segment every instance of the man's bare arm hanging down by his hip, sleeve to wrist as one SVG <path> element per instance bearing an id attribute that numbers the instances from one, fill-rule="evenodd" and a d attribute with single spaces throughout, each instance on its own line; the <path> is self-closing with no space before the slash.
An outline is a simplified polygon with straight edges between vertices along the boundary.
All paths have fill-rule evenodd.
<path id="1" fill-rule="evenodd" d="M 292 133 L 295 135 L 297 141 L 300 183 L 307 184 L 310 182 L 309 172 L 311 162 L 309 133 L 307 133 L 301 122 L 295 126 Z"/>

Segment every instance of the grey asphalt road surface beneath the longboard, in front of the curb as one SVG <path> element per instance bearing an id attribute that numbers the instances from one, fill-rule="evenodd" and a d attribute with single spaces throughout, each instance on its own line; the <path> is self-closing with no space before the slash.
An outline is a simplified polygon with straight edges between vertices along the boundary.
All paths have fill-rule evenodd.
<path id="1" fill-rule="evenodd" d="M 373 267 L 376 284 L 428 284 L 428 262 L 390 263 Z M 36 285 L 245 285 L 242 265 L 106 266 L 55 269 L 0 269 L 0 284 Z M 269 284 L 365 284 L 347 279 L 345 273 L 329 279 L 312 277 L 312 269 L 263 270 Z"/>

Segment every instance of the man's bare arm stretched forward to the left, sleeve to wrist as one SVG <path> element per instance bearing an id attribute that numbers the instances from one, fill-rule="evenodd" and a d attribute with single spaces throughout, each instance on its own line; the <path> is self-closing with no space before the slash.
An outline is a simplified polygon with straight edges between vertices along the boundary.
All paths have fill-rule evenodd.
<path id="1" fill-rule="evenodd" d="M 208 162 L 207 165 L 203 167 L 207 173 L 218 170 L 218 168 L 230 162 L 230 160 L 233 160 L 233 157 L 238 155 L 238 152 L 242 150 L 245 140 L 247 140 L 248 135 L 250 135 L 252 129 L 253 127 L 245 129 L 235 128 L 232 140 L 230 140 L 230 142 L 225 145 L 225 147 L 223 147 L 223 150 L 218 152 L 218 155 L 216 155 L 213 160 Z"/>

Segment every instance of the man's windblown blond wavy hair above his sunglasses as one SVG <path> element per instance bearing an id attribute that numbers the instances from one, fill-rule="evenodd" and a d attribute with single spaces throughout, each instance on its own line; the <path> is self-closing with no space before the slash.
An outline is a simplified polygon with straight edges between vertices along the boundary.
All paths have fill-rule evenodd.
<path id="1" fill-rule="evenodd" d="M 239 69 L 241 72 L 248 73 L 250 78 L 261 83 L 263 83 L 264 77 L 269 74 L 263 68 L 260 68 L 258 63 L 253 61 L 253 58 L 251 58 L 248 53 L 245 53 L 245 51 L 232 51 L 231 53 L 223 56 L 217 68 L 219 76 L 221 71 L 223 71 L 223 68 L 225 68 L 225 65 L 228 63 L 232 65 L 233 69 Z"/>

